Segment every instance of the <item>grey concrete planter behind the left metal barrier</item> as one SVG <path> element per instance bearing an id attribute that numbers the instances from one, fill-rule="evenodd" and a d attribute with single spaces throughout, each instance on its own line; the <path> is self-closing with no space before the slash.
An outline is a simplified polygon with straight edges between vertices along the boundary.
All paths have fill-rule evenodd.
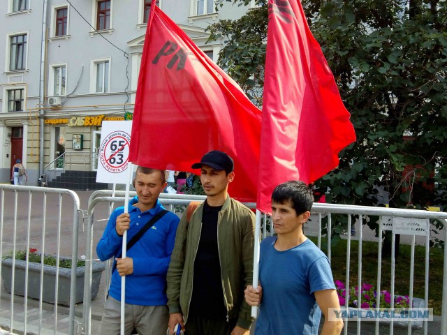
<path id="1" fill-rule="evenodd" d="M 24 260 L 15 260 L 15 279 L 14 294 L 25 295 L 25 268 Z M 6 292 L 11 292 L 13 260 L 6 258 L 1 261 L 1 278 L 3 280 L 3 288 Z M 98 294 L 99 283 L 101 282 L 101 274 L 105 269 L 103 262 L 93 262 L 91 273 L 91 299 Z M 84 298 L 84 274 L 85 267 L 76 269 L 76 295 L 75 304 L 82 302 Z M 43 297 L 42 300 L 54 304 L 54 285 L 56 283 L 56 267 L 51 265 L 43 266 Z M 71 292 L 71 269 L 59 267 L 59 288 L 57 290 L 57 304 L 69 306 Z M 28 297 L 40 299 L 41 285 L 41 264 L 28 263 Z"/>

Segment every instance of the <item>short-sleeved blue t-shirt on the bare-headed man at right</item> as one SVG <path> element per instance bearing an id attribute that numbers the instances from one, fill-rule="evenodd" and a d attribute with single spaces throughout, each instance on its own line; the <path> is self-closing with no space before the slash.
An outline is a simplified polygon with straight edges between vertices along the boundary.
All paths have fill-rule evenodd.
<path id="1" fill-rule="evenodd" d="M 263 299 L 255 334 L 318 334 L 321 310 L 314 292 L 335 289 L 329 260 L 309 239 L 286 251 L 274 248 L 276 239 L 261 243 Z"/>

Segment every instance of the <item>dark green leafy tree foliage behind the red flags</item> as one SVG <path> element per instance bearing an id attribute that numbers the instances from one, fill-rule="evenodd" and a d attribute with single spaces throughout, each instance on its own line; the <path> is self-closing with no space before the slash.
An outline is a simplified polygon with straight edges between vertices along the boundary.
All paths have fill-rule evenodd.
<path id="1" fill-rule="evenodd" d="M 223 2 L 249 3 L 217 6 Z M 228 38 L 220 65 L 261 105 L 256 88 L 263 87 L 268 10 L 259 3 L 210 32 Z M 340 204 L 380 204 L 381 189 L 391 207 L 445 205 L 447 1 L 302 0 L 302 6 L 357 135 L 339 167 L 316 186 Z"/>

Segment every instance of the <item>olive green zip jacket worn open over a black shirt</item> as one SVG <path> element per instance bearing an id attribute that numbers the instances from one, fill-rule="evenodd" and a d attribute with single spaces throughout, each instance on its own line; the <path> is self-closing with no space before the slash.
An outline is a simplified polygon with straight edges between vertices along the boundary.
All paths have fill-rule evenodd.
<path id="1" fill-rule="evenodd" d="M 180 220 L 167 275 L 169 313 L 182 313 L 188 320 L 193 291 L 194 260 L 202 231 L 203 204 L 194 211 L 188 224 L 186 211 Z M 237 318 L 237 325 L 249 329 L 251 307 L 244 300 L 244 290 L 253 279 L 253 211 L 229 196 L 219 211 L 217 246 L 221 262 L 221 281 L 227 320 Z"/>

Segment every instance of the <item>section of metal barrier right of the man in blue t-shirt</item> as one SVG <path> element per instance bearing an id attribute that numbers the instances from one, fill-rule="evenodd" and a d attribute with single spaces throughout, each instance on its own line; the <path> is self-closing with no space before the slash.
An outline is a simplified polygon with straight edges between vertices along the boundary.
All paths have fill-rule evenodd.
<path id="1" fill-rule="evenodd" d="M 425 237 L 425 306 L 423 308 L 428 308 L 428 288 L 429 288 L 429 250 L 430 250 L 430 220 L 439 220 L 444 225 L 444 241 L 447 241 L 447 213 L 439 211 L 422 211 L 413 209 L 396 209 L 396 208 L 384 208 L 384 207 L 367 207 L 367 206 L 354 206 L 354 205 L 344 205 L 344 204 L 314 204 L 312 211 L 318 215 L 318 247 L 321 246 L 321 215 L 328 215 L 328 231 L 332 230 L 332 215 L 331 214 L 346 214 L 348 218 L 347 227 L 347 246 L 346 246 L 346 288 L 349 287 L 348 283 L 350 277 L 349 265 L 351 260 L 351 225 L 352 217 L 358 216 L 358 224 L 360 226 L 358 232 L 358 288 L 362 285 L 362 221 L 366 216 L 379 216 L 379 237 L 382 236 L 383 231 L 389 230 L 392 234 L 391 241 L 391 307 L 393 308 L 394 292 L 395 292 L 395 235 L 399 234 L 409 234 L 411 235 L 411 260 L 410 260 L 410 292 L 409 292 L 409 305 L 412 306 L 413 303 L 413 270 L 414 270 L 414 249 L 415 249 L 415 236 L 420 235 Z M 402 221 L 400 218 L 406 218 Z M 424 223 L 425 222 L 425 223 Z M 408 224 L 406 224 L 408 223 Z M 415 229 L 415 227 L 417 227 Z M 378 269 L 377 269 L 377 283 L 376 291 L 381 291 L 381 262 L 382 262 L 382 239 L 380 238 L 378 244 Z M 331 240 L 328 239 L 328 258 L 331 257 Z M 447 248 L 444 248 L 444 277 L 443 277 L 443 292 L 442 292 L 442 309 L 441 309 L 441 334 L 447 334 Z M 346 296 L 349 292 L 346 292 Z M 348 307 L 348 301 L 346 300 L 345 308 Z M 360 311 L 360 301 L 358 301 L 358 308 Z M 379 304 L 377 304 L 376 310 L 379 310 Z M 410 307 L 411 310 L 411 307 Z M 344 323 L 344 334 L 348 334 L 349 320 L 345 320 Z M 361 320 L 357 320 L 357 332 L 361 333 Z M 408 334 L 412 334 L 411 321 L 407 324 Z M 428 324 L 427 321 L 423 322 L 423 329 L 425 335 L 428 334 Z M 393 335 L 394 327 L 393 320 L 390 320 L 389 334 Z M 379 334 L 379 321 L 375 323 L 374 334 Z"/>

